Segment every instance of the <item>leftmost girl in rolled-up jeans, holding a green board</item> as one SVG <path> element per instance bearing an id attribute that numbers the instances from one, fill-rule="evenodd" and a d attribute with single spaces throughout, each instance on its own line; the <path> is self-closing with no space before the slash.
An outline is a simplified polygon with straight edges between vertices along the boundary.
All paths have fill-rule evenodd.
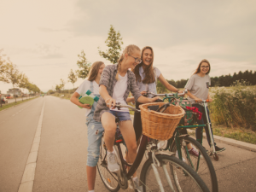
<path id="1" fill-rule="evenodd" d="M 88 157 L 87 157 L 87 183 L 89 191 L 94 191 L 96 180 L 96 164 L 99 159 L 100 145 L 102 142 L 103 127 L 100 122 L 93 119 L 93 114 L 96 108 L 96 102 L 92 106 L 89 104 L 82 104 L 79 102 L 79 96 L 86 96 L 86 91 L 90 90 L 95 96 L 99 95 L 99 83 L 102 75 L 102 71 L 105 64 L 102 61 L 96 61 L 90 67 L 90 73 L 88 79 L 84 80 L 83 84 L 73 93 L 70 101 L 74 104 L 86 108 L 85 116 L 88 132 Z"/>

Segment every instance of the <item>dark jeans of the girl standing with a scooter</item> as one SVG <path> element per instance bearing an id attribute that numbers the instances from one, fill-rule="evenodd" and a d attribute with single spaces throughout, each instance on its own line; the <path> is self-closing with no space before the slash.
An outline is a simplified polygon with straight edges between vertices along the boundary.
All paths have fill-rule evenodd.
<path id="1" fill-rule="evenodd" d="M 211 119 L 210 119 L 210 115 L 209 115 L 209 109 L 207 108 L 207 115 L 206 115 L 206 111 L 205 108 L 203 106 L 201 106 L 200 104 L 193 104 L 193 107 L 198 108 L 198 110 L 202 113 L 202 117 L 200 120 L 197 120 L 198 125 L 207 125 L 207 115 L 208 115 L 208 119 L 209 119 L 209 123 L 211 123 Z M 210 124 L 211 126 L 211 131 L 212 131 L 212 124 Z M 204 126 L 206 134 L 207 134 L 207 141 L 209 143 L 209 145 L 211 146 L 211 139 L 210 139 L 210 134 L 209 134 L 209 130 L 207 126 Z M 195 130 L 195 137 L 197 141 L 201 141 L 202 139 L 202 130 L 203 127 L 198 127 Z M 213 140 L 213 134 L 212 134 L 212 140 Z M 214 143 L 214 140 L 213 140 Z M 214 145 L 216 145 L 216 143 L 214 143 Z"/>

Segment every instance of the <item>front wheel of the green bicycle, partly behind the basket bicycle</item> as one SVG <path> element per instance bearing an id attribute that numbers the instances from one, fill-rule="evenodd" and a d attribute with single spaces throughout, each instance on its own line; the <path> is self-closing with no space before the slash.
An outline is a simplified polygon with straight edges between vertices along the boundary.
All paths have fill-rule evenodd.
<path id="1" fill-rule="evenodd" d="M 182 156 L 185 159 L 185 162 L 191 166 L 195 172 L 199 174 L 199 176 L 203 179 L 203 181 L 207 184 L 208 189 L 212 192 L 218 192 L 218 181 L 216 177 L 216 172 L 212 165 L 212 160 L 207 154 L 205 148 L 201 146 L 201 143 L 195 141 L 194 138 L 191 137 L 179 137 L 180 146 L 182 148 Z M 191 143 L 193 148 L 195 148 L 200 156 L 194 156 L 188 154 L 186 152 L 187 145 L 186 143 Z M 177 154 L 177 146 L 175 141 L 172 143 L 171 151 Z"/>

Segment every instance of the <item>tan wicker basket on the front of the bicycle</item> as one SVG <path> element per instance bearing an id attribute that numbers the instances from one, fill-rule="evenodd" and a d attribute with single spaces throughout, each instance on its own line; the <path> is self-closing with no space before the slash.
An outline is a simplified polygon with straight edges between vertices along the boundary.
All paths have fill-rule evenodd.
<path id="1" fill-rule="evenodd" d="M 157 140 L 167 140 L 172 137 L 177 124 L 184 116 L 183 108 L 171 105 L 164 113 L 148 111 L 148 106 L 162 105 L 166 102 L 153 102 L 140 105 L 143 135 Z"/>

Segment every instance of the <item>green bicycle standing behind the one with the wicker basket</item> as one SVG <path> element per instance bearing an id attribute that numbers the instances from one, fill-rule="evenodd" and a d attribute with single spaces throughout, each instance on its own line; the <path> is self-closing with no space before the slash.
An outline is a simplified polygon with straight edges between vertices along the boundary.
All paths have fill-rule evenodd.
<path id="1" fill-rule="evenodd" d="M 207 184 L 207 187 L 208 189 L 210 189 L 210 191 L 218 192 L 218 180 L 216 172 L 212 165 L 212 161 L 209 157 L 209 155 L 212 152 L 209 151 L 209 153 L 207 153 L 206 149 L 203 148 L 201 145 L 202 139 L 199 143 L 194 138 L 189 137 L 189 134 L 186 131 L 187 129 L 195 129 L 197 127 L 202 127 L 206 125 L 193 125 L 196 122 L 197 113 L 185 108 L 185 106 L 191 106 L 191 104 L 189 103 L 188 100 L 182 97 L 184 93 L 154 94 L 148 92 L 148 94 L 152 94 L 153 96 L 165 96 L 163 102 L 165 100 L 168 100 L 166 106 L 162 106 L 158 109 L 158 111 L 164 112 L 171 103 L 174 105 L 179 105 L 183 108 L 183 110 L 185 110 L 185 115 L 183 119 L 180 121 L 180 124 L 183 125 L 177 126 L 176 130 L 173 133 L 172 138 L 170 138 L 167 141 L 166 147 L 163 149 L 175 153 L 180 160 L 184 160 L 189 166 L 191 166 L 195 170 L 195 172 L 197 172 L 201 176 L 201 178 Z M 195 148 L 195 150 L 198 152 L 198 156 L 189 154 L 189 149 L 187 147 L 189 143 L 192 144 L 193 148 Z M 213 154 L 214 160 L 215 155 Z"/>

